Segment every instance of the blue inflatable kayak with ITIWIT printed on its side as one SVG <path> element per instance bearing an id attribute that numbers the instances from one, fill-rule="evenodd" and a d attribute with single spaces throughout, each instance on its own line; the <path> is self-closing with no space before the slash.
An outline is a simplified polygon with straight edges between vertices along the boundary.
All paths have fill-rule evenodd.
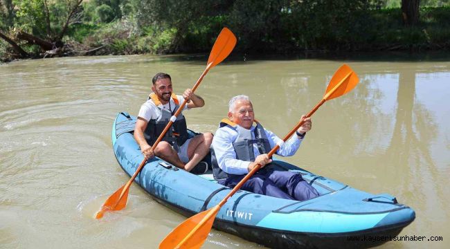
<path id="1" fill-rule="evenodd" d="M 111 132 L 114 154 L 129 176 L 143 160 L 135 124 L 136 117 L 118 113 Z M 415 219 L 414 210 L 390 194 L 369 194 L 278 158 L 273 165 L 301 174 L 321 195 L 292 201 L 240 190 L 217 213 L 215 229 L 269 248 L 368 248 L 395 239 Z M 213 208 L 231 191 L 214 180 L 211 170 L 195 175 L 158 157 L 147 160 L 135 182 L 185 216 Z"/>

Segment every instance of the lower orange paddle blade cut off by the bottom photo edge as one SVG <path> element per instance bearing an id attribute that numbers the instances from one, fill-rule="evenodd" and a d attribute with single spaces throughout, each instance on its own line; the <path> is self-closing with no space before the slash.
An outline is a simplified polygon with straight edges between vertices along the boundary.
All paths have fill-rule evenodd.
<path id="1" fill-rule="evenodd" d="M 213 227 L 220 206 L 199 212 L 174 228 L 159 244 L 160 249 L 200 248 Z"/>

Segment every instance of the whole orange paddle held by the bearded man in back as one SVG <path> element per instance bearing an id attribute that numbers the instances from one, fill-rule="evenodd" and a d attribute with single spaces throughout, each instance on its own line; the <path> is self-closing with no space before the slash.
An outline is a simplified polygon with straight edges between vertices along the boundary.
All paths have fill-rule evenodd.
<path id="1" fill-rule="evenodd" d="M 217 37 L 213 49 L 211 50 L 211 53 L 208 58 L 208 63 L 206 64 L 205 71 L 201 74 L 199 77 L 199 80 L 195 83 L 195 85 L 192 87 L 192 93 L 195 92 L 195 89 L 199 86 L 201 80 L 203 80 L 203 77 L 205 77 L 206 73 L 210 70 L 210 68 L 213 68 L 215 65 L 222 62 L 233 50 L 236 44 L 236 37 L 233 35 L 231 30 L 228 28 L 223 28 L 220 32 L 219 36 Z M 158 143 L 163 139 L 165 133 L 168 131 L 170 126 L 172 126 L 172 123 L 177 120 L 177 116 L 179 116 L 179 113 L 183 110 L 183 107 L 186 105 L 188 101 L 184 100 L 183 104 L 179 107 L 176 113 L 174 113 L 174 116 L 170 118 L 170 121 L 163 129 L 163 132 L 159 135 L 158 139 L 154 142 L 152 145 L 152 150 L 156 148 Z M 114 194 L 109 196 L 109 198 L 105 201 L 105 203 L 102 205 L 102 208 L 97 212 L 96 219 L 102 218 L 103 214 L 107 211 L 117 211 L 122 210 L 127 205 L 127 199 L 128 199 L 128 192 L 129 192 L 129 186 L 132 185 L 134 178 L 141 172 L 141 169 L 144 167 L 147 160 L 144 158 L 142 160 L 141 165 L 136 169 L 136 172 L 134 172 L 133 176 L 129 181 L 120 187 Z"/>

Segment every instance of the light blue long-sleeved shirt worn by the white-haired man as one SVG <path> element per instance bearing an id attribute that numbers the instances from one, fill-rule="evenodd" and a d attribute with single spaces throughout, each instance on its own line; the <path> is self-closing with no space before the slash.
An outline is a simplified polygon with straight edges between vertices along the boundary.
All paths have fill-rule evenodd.
<path id="1" fill-rule="evenodd" d="M 255 139 L 255 133 L 253 133 L 254 129 L 254 126 L 250 128 L 250 130 L 252 131 L 251 136 L 253 139 Z M 282 139 L 278 138 L 278 136 L 276 136 L 273 132 L 267 129 L 264 129 L 264 131 L 266 132 L 267 138 L 269 139 L 271 148 L 275 147 L 277 142 L 282 142 Z M 235 128 L 228 125 L 221 127 L 217 129 L 214 135 L 212 146 L 220 169 L 228 174 L 242 175 L 249 173 L 248 167 L 252 162 L 236 159 L 233 142 L 236 140 L 237 135 L 238 134 Z M 294 155 L 298 147 L 300 147 L 302 140 L 303 139 L 298 138 L 298 136 L 296 135 L 292 136 L 280 147 L 280 149 L 278 149 L 276 154 L 280 156 Z M 260 155 L 258 145 L 253 144 L 253 152 L 255 154 L 255 158 L 256 156 Z"/>

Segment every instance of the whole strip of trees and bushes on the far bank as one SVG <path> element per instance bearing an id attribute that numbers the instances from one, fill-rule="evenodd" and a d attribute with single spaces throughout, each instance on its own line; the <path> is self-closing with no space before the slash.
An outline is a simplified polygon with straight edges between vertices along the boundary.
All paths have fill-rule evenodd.
<path id="1" fill-rule="evenodd" d="M 207 52 L 450 48 L 450 0 L 0 0 L 0 60 Z"/>

